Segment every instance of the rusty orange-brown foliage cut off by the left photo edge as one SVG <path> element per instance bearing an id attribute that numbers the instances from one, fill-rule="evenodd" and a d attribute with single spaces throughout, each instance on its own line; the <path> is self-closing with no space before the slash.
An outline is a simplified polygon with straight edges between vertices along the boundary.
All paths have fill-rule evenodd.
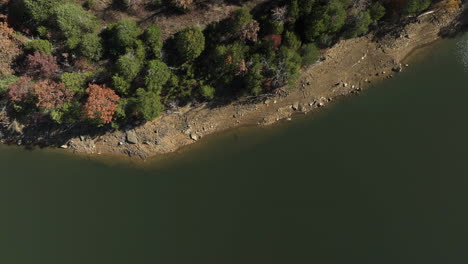
<path id="1" fill-rule="evenodd" d="M 11 64 L 21 50 L 13 29 L 5 22 L 0 22 L 0 45 L 0 75 L 10 75 L 13 73 Z"/>

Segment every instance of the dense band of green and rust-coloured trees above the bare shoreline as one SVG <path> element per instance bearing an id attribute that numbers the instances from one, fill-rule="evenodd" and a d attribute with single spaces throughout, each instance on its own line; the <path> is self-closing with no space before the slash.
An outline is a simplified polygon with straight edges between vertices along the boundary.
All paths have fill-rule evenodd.
<path id="1" fill-rule="evenodd" d="M 115 1 L 122 9 L 134 2 Z M 182 12 L 194 4 L 149 2 Z M 320 48 L 436 2 L 285 0 L 254 15 L 240 8 L 204 29 L 190 26 L 163 41 L 157 25 L 104 25 L 87 10 L 92 0 L 83 6 L 73 0 L 0 0 L 11 20 L 0 22 L 0 97 L 23 118 L 114 126 L 150 121 L 169 105 L 294 88 L 301 69 L 317 62 Z"/>

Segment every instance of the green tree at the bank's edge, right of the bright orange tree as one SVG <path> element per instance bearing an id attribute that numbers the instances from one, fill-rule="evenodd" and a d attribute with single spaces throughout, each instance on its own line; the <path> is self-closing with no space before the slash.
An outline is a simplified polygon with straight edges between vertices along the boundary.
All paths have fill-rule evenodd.
<path id="1" fill-rule="evenodd" d="M 164 109 L 159 94 L 153 91 L 146 91 L 142 88 L 139 88 L 136 94 L 139 116 L 145 121 L 151 121 L 157 118 Z"/>

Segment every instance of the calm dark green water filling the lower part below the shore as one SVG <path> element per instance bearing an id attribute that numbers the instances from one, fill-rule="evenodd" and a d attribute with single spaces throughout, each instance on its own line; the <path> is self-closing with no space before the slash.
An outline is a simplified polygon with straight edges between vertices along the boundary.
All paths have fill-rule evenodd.
<path id="1" fill-rule="evenodd" d="M 143 166 L 1 146 L 0 263 L 467 263 L 468 36 L 416 58 Z"/>

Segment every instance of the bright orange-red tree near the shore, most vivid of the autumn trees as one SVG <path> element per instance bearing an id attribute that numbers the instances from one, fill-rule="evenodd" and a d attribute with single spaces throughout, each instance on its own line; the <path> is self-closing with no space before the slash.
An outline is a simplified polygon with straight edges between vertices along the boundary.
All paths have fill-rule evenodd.
<path id="1" fill-rule="evenodd" d="M 88 101 L 84 105 L 86 118 L 97 119 L 103 124 L 110 123 L 118 108 L 120 97 L 114 90 L 97 84 L 90 84 L 86 93 L 88 94 Z"/>

